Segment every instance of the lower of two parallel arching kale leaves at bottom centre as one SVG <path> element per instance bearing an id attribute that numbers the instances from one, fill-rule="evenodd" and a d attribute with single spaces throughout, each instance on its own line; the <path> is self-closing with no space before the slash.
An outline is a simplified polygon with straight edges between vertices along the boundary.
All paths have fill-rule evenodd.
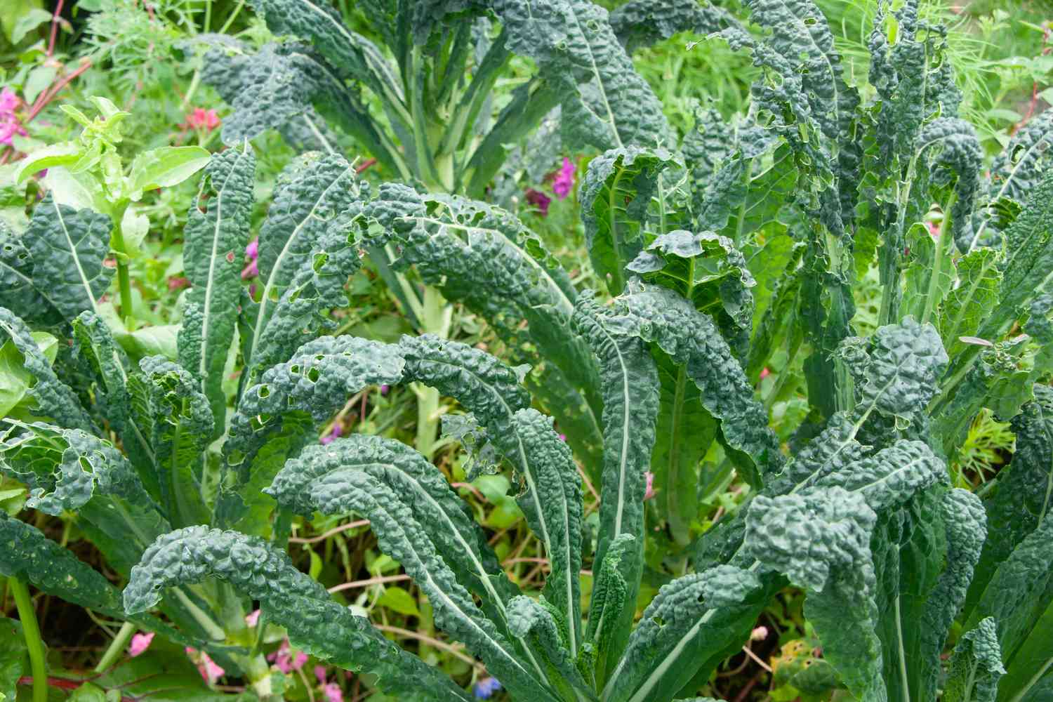
<path id="1" fill-rule="evenodd" d="M 531 696 L 528 699 L 556 699 L 457 581 L 436 549 L 433 529 L 418 521 L 412 503 L 403 502 L 395 490 L 369 473 L 353 468 L 322 476 L 313 484 L 311 497 L 323 514 L 354 510 L 369 519 L 380 548 L 401 563 L 428 595 L 436 625 L 463 641 L 513 694 Z"/>

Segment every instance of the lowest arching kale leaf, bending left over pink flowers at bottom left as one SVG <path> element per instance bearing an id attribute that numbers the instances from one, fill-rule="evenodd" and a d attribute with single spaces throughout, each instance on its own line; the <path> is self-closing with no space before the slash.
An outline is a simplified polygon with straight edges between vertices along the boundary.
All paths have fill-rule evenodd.
<path id="1" fill-rule="evenodd" d="M 188 526 L 157 539 L 132 570 L 124 609 L 144 611 L 161 590 L 220 578 L 259 600 L 269 621 L 284 626 L 300 650 L 360 673 L 408 700 L 472 698 L 442 674 L 384 639 L 364 618 L 329 599 L 325 588 L 297 570 L 265 541 L 236 531 Z"/>

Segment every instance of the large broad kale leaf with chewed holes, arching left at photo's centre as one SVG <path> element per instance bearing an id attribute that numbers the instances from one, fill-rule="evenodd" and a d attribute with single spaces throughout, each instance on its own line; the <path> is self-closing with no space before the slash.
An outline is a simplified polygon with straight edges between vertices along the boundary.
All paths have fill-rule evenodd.
<path id="1" fill-rule="evenodd" d="M 415 264 L 448 300 L 482 315 L 512 347 L 516 362 L 555 366 L 564 382 L 547 389 L 556 374 L 542 368 L 545 382 L 532 383 L 540 390 L 539 400 L 560 426 L 590 432 L 576 448 L 602 445 L 596 363 L 570 328 L 577 293 L 534 234 L 497 207 L 459 197 L 421 196 L 397 184 L 380 186 L 366 216 L 382 232 L 373 242 L 392 237 L 403 242 L 400 264 Z M 599 457 L 590 452 L 583 459 L 598 480 Z"/>

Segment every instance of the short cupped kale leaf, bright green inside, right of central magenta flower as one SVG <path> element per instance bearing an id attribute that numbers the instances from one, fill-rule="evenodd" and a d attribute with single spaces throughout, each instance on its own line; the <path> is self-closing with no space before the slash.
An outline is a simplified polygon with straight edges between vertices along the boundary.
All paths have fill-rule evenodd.
<path id="1" fill-rule="evenodd" d="M 664 149 L 615 148 L 589 162 L 581 182 L 581 220 L 593 268 L 612 295 L 625 287 L 625 265 L 640 253 L 643 220 L 659 174 L 674 157 Z"/>

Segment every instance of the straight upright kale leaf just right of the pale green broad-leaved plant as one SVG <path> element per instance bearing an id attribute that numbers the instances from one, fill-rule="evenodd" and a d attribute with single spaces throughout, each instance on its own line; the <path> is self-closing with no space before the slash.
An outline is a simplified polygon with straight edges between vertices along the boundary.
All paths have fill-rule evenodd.
<path id="1" fill-rule="evenodd" d="M 226 414 L 223 365 L 234 341 L 241 298 L 241 265 L 249 243 L 256 157 L 247 143 L 212 157 L 183 236 L 184 266 L 193 286 L 179 332 L 179 362 L 208 398 L 214 434 Z"/>

